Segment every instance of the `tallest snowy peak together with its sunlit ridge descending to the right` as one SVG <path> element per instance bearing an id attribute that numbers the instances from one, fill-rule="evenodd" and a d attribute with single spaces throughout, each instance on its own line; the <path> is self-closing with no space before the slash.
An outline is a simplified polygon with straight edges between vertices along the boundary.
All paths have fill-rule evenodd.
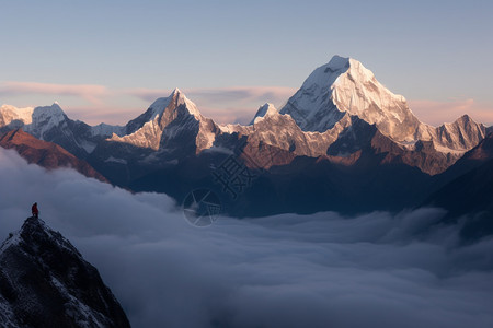
<path id="1" fill-rule="evenodd" d="M 438 128 L 421 122 L 403 96 L 380 84 L 359 61 L 339 56 L 316 69 L 280 113 L 289 114 L 303 131 L 319 132 L 332 129 L 346 113 L 376 125 L 401 147 L 433 141 L 436 151 L 454 157 L 485 136 L 485 128 L 469 117 Z"/>

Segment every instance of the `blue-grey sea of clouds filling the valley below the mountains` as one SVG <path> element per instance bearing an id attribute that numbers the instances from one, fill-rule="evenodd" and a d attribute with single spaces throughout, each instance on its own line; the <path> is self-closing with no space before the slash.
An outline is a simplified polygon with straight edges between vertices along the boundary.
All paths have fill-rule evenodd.
<path id="1" fill-rule="evenodd" d="M 39 216 L 94 265 L 133 327 L 493 327 L 493 239 L 439 209 L 190 225 L 133 195 L 0 149 L 0 239 Z"/>

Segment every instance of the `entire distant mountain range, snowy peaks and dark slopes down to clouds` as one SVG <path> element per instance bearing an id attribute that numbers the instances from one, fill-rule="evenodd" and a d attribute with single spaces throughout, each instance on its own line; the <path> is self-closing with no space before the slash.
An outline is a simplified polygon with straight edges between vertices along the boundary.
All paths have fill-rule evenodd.
<path id="1" fill-rule="evenodd" d="M 248 126 L 215 122 L 176 89 L 124 127 L 71 120 L 57 104 L 3 105 L 0 131 L 19 128 L 87 161 L 114 185 L 179 202 L 210 188 L 238 216 L 433 203 L 440 188 L 478 168 L 466 159 L 479 156 L 492 132 L 467 115 L 439 127 L 423 124 L 403 96 L 359 61 L 339 56 L 280 110 L 265 104 Z M 481 154 L 486 165 L 491 153 Z"/>

